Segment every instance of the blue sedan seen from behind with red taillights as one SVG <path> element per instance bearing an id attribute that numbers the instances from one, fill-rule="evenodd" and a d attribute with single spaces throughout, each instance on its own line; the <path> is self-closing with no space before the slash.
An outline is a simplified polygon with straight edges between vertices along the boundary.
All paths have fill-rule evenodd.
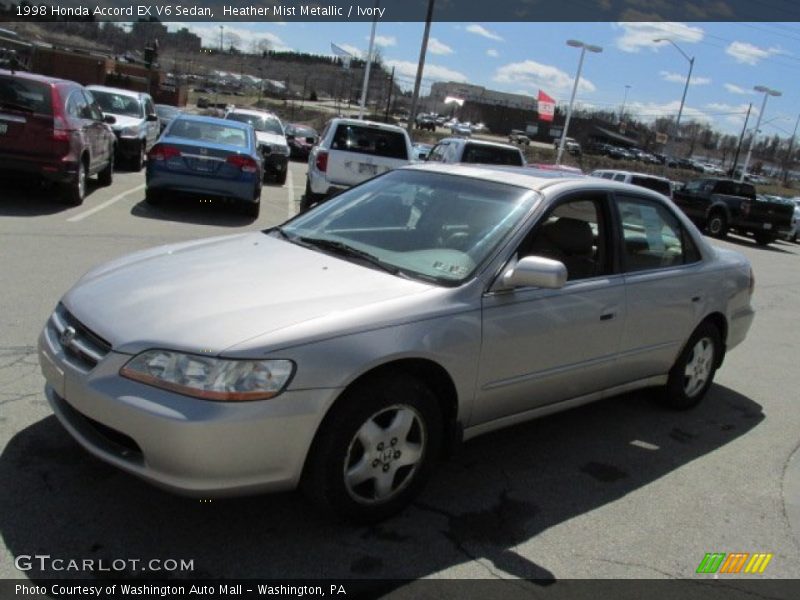
<path id="1" fill-rule="evenodd" d="M 146 199 L 158 204 L 167 191 L 230 199 L 257 217 L 262 170 L 250 125 L 180 115 L 147 155 Z"/>

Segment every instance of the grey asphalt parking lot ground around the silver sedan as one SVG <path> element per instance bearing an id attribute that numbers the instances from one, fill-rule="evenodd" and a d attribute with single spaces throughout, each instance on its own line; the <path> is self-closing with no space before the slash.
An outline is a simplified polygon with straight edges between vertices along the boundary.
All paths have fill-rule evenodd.
<path id="1" fill-rule="evenodd" d="M 695 574 L 707 552 L 768 552 L 760 577 L 798 576 L 800 246 L 785 242 L 715 242 L 752 261 L 757 316 L 700 407 L 668 412 L 639 392 L 483 436 L 377 526 L 330 522 L 296 494 L 172 496 L 84 452 L 50 413 L 35 351 L 60 296 L 134 250 L 278 224 L 304 185 L 305 164 L 290 163 L 253 221 L 199 199 L 150 207 L 143 173 L 115 174 L 74 208 L 4 184 L 0 578 L 63 575 L 17 571 L 14 557 L 36 553 L 192 559 L 214 578 L 558 581 L 709 578 Z"/>

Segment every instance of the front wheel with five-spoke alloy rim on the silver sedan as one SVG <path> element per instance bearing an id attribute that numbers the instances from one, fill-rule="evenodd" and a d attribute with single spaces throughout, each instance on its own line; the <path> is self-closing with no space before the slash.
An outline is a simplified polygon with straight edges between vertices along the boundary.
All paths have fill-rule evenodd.
<path id="1" fill-rule="evenodd" d="M 414 377 L 371 377 L 348 390 L 323 423 L 302 487 L 323 509 L 376 522 L 422 489 L 442 443 L 436 397 Z"/>

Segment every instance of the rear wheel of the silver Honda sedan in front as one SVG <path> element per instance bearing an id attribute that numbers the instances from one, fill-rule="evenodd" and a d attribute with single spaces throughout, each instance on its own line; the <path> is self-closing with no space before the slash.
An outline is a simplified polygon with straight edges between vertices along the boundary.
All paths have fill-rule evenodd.
<path id="1" fill-rule="evenodd" d="M 722 356 L 722 336 L 709 322 L 695 329 L 675 365 L 669 372 L 662 391 L 662 403 L 669 408 L 685 410 L 697 406 L 714 381 Z"/>

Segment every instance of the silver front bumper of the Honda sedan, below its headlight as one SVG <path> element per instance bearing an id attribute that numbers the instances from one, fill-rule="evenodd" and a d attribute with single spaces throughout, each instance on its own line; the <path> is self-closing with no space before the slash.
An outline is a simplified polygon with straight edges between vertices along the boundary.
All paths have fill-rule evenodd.
<path id="1" fill-rule="evenodd" d="M 47 398 L 67 431 L 98 458 L 190 496 L 296 487 L 339 393 L 298 390 L 258 402 L 209 402 L 121 377 L 129 359 L 111 351 L 87 372 L 49 326 L 39 338 Z"/>

